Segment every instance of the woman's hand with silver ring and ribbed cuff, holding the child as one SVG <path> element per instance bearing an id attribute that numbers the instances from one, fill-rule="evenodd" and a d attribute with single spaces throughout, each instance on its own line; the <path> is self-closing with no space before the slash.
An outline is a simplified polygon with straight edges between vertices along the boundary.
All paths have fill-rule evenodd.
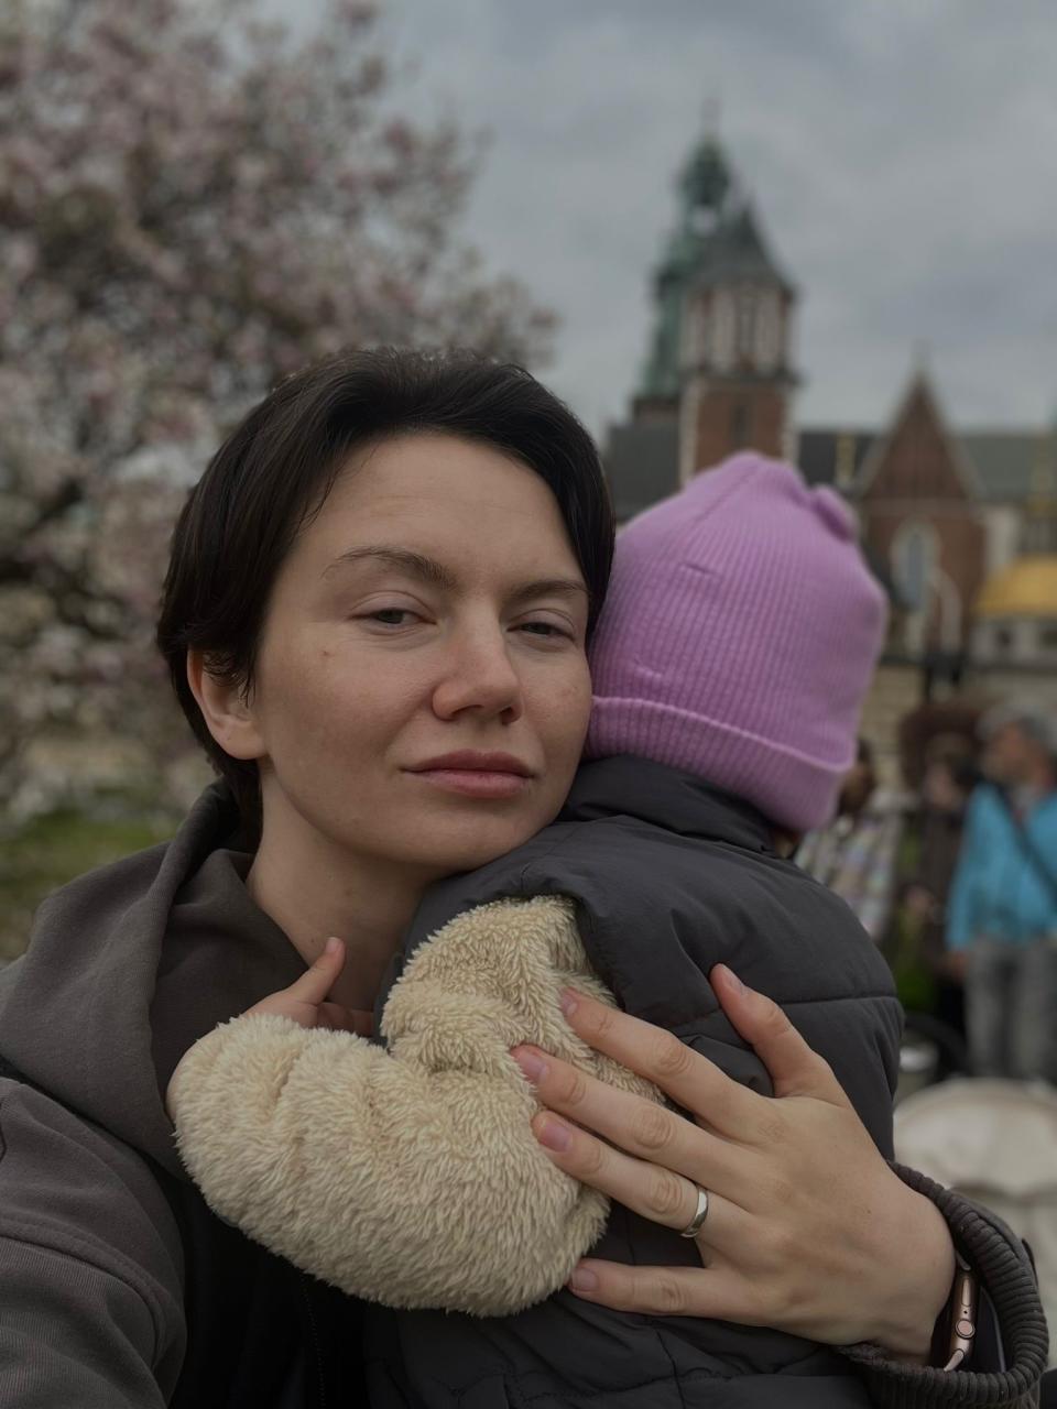
<path id="1" fill-rule="evenodd" d="M 567 1003 L 574 1030 L 654 1081 L 692 1120 L 545 1053 L 514 1053 L 547 1107 L 536 1136 L 565 1172 L 679 1230 L 699 1209 L 698 1188 L 709 1192 L 698 1234 L 703 1267 L 585 1260 L 572 1291 L 620 1310 L 771 1326 L 847 1347 L 878 1403 L 1034 1403 L 1046 1327 L 1020 1244 L 965 1200 L 894 1171 L 782 1010 L 722 965 L 712 981 L 768 1068 L 774 1098 L 579 993 Z M 946 1374 L 925 1364 L 953 1282 L 953 1233 L 995 1306 L 1003 1371 Z"/>

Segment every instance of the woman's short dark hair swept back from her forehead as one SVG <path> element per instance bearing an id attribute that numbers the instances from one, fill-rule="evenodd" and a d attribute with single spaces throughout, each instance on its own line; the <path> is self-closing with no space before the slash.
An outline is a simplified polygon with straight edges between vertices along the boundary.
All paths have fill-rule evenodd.
<path id="1" fill-rule="evenodd" d="M 613 564 L 614 521 L 598 449 L 572 411 L 521 366 L 464 351 L 344 352 L 280 382 L 228 435 L 172 537 L 158 648 L 176 697 L 251 834 L 256 764 L 210 734 L 187 683 L 187 652 L 249 690 L 272 586 L 297 533 L 357 448 L 441 431 L 495 445 L 554 495 L 591 596 L 593 627 Z"/>

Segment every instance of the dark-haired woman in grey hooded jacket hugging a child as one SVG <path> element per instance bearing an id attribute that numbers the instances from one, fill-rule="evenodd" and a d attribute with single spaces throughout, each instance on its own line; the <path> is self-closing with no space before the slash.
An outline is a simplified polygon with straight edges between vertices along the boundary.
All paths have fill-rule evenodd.
<path id="1" fill-rule="evenodd" d="M 342 475 L 352 461 L 361 473 Z M 197 1037 L 296 982 L 328 934 L 351 937 L 334 998 L 369 1007 L 426 886 L 554 817 L 586 726 L 583 641 L 610 554 L 589 438 L 517 369 L 359 354 L 283 383 L 221 448 L 175 540 L 159 643 L 230 786 L 210 789 L 168 847 L 52 898 L 0 976 L 4 1055 L 23 1078 L 0 1107 L 8 1398 L 357 1402 L 355 1303 L 206 1213 L 180 1182 L 161 1091 Z M 457 602 L 435 623 L 426 695 L 389 630 L 409 610 L 385 576 L 395 564 Z M 571 647 L 541 650 L 551 633 Z M 502 730 L 533 765 L 503 807 L 462 806 L 428 776 Z M 855 1354 L 882 1402 L 1026 1403 L 1044 1333 L 1020 1250 L 948 1195 L 899 1184 L 765 1000 L 733 988 L 723 1000 L 788 1096 L 778 1106 L 717 1082 L 692 1053 L 672 1060 L 623 1014 L 603 1020 L 589 1002 L 571 1013 L 702 1122 L 737 1113 L 746 1131 L 746 1219 L 726 1277 L 588 1265 L 578 1292 L 874 1340 Z M 647 1202 L 658 1165 L 715 1185 L 693 1124 L 645 1151 L 633 1107 L 569 1078 L 558 1061 L 538 1075 L 548 1106 L 585 1127 L 555 1151 L 569 1174 L 630 1203 Z M 992 1291 L 1006 1374 L 909 1363 L 948 1293 L 937 1206 Z"/>

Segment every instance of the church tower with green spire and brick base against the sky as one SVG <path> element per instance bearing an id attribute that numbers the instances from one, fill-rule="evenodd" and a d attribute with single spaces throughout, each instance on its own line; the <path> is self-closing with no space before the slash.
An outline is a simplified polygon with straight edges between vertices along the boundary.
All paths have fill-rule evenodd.
<path id="1" fill-rule="evenodd" d="M 634 420 L 678 426 L 679 482 L 737 449 L 792 451 L 796 292 L 750 200 L 706 137 L 678 183 L 679 213 L 654 279 L 655 321 Z"/>

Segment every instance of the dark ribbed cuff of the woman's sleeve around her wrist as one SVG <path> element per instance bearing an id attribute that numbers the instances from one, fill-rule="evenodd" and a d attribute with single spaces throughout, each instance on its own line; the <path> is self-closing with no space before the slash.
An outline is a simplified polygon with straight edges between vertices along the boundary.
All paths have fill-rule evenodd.
<path id="1" fill-rule="evenodd" d="M 864 1372 L 871 1402 L 882 1409 L 1033 1409 L 1046 1370 L 1049 1336 L 1027 1255 L 1018 1255 L 1009 1230 L 985 1209 L 916 1169 L 894 1165 L 899 1178 L 939 1208 L 956 1246 L 991 1298 L 1003 1333 L 1009 1368 L 1003 1372 L 936 1370 L 891 1360 L 879 1346 L 846 1346 L 843 1354 Z"/>

